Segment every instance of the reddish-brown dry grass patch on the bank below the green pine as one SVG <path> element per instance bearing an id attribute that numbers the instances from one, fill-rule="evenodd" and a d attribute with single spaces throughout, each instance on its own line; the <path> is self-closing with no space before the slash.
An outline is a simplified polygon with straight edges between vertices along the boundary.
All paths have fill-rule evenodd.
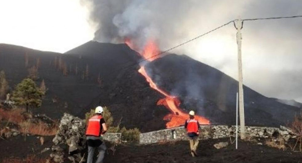
<path id="1" fill-rule="evenodd" d="M 0 109 L 1 119 L 19 125 L 19 130 L 22 133 L 42 136 L 50 136 L 57 133 L 58 123 L 54 123 L 52 126 L 48 126 L 47 123 L 42 121 L 33 123 L 30 119 L 27 119 L 23 113 L 23 109 L 12 109 L 8 111 Z"/>

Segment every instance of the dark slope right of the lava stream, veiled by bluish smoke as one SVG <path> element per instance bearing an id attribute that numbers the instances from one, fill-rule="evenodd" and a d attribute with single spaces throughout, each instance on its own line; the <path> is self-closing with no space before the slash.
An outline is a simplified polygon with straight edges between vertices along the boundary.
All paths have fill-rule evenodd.
<path id="1" fill-rule="evenodd" d="M 182 108 L 196 110 L 212 123 L 235 124 L 237 81 L 221 71 L 182 55 L 170 54 L 147 65 L 158 86 L 179 96 Z M 244 86 L 245 123 L 250 126 L 284 125 L 300 112 L 274 98 Z"/>

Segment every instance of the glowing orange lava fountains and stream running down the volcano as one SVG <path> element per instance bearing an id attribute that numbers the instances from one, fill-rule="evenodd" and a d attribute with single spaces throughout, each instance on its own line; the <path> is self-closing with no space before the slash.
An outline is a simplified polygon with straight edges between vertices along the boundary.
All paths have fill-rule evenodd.
<path id="1" fill-rule="evenodd" d="M 131 40 L 129 39 L 125 40 L 125 43 L 130 48 L 133 48 L 133 45 L 131 44 Z M 140 55 L 151 62 L 158 58 L 158 56 L 152 57 L 158 53 L 159 53 L 159 49 L 157 48 L 156 43 L 153 40 L 149 40 L 145 45 L 144 50 L 140 53 Z M 172 96 L 167 92 L 165 92 L 164 90 L 158 88 L 157 85 L 148 76 L 144 65 L 141 65 L 141 68 L 138 70 L 138 72 L 141 73 L 146 78 L 146 81 L 149 82 L 151 88 L 157 90 L 158 92 L 166 96 L 165 98 L 162 98 L 157 102 L 157 105 L 164 105 L 166 108 L 168 108 L 171 111 L 170 114 L 164 117 L 164 120 L 169 121 L 168 123 L 166 123 L 166 127 L 172 128 L 172 127 L 179 127 L 183 125 L 185 120 L 188 119 L 189 115 L 183 112 L 182 109 L 179 107 L 181 103 L 180 100 L 177 97 Z M 195 115 L 195 119 L 197 119 L 200 124 L 210 124 L 210 121 L 202 116 Z"/>

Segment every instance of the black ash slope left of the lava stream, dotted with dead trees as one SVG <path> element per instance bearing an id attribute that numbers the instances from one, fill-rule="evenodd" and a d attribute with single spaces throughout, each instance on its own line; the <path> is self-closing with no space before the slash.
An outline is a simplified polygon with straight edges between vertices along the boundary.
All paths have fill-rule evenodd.
<path id="1" fill-rule="evenodd" d="M 121 126 L 138 127 L 143 132 L 164 128 L 162 119 L 168 111 L 155 105 L 161 95 L 149 88 L 137 67 L 120 69 L 125 63 L 136 63 L 139 59 L 137 53 L 125 44 L 90 41 L 81 47 L 85 46 L 96 47 L 89 49 L 97 55 L 42 52 L 0 44 L 0 70 L 6 72 L 12 90 L 27 77 L 27 69 L 36 65 L 40 58 L 40 78 L 36 83 L 39 85 L 44 79 L 48 91 L 42 107 L 32 109 L 34 112 L 45 113 L 52 118 L 60 118 L 68 112 L 84 118 L 87 111 L 100 104 L 110 108 L 117 123 L 121 119 Z M 64 67 L 67 75 L 63 74 Z M 112 73 L 115 68 L 117 71 Z"/>

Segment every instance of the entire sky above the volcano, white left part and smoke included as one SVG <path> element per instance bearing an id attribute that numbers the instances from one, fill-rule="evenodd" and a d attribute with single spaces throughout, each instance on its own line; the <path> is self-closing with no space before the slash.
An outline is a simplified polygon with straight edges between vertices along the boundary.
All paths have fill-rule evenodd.
<path id="1" fill-rule="evenodd" d="M 88 40 L 132 37 L 140 47 L 152 38 L 165 50 L 238 17 L 302 15 L 301 8 L 300 0 L 0 0 L 0 43 L 65 52 Z M 302 18 L 243 26 L 244 84 L 302 102 Z M 233 24 L 172 52 L 237 78 Z"/>

